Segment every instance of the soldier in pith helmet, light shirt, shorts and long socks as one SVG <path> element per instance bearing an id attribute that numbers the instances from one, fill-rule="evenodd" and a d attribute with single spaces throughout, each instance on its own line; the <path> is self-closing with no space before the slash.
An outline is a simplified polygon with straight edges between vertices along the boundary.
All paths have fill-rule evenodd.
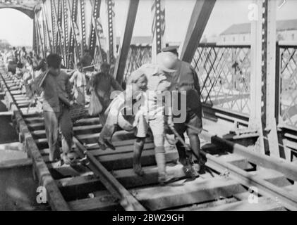
<path id="1" fill-rule="evenodd" d="M 171 181 L 174 177 L 166 173 L 164 148 L 165 111 L 170 114 L 171 104 L 165 104 L 166 101 L 160 104 L 158 98 L 165 91 L 171 91 L 174 85 L 172 74 L 175 72 L 176 63 L 177 57 L 173 54 L 159 53 L 157 55 L 157 64 L 145 64 L 135 71 L 147 77 L 147 93 L 145 94 L 143 115 L 140 116 L 140 120 L 144 122 L 138 123 L 137 126 L 138 135 L 134 145 L 133 169 L 136 174 L 143 175 L 140 156 L 145 144 L 147 130 L 150 128 L 154 138 L 154 152 L 159 173 L 158 180 L 161 184 Z"/>

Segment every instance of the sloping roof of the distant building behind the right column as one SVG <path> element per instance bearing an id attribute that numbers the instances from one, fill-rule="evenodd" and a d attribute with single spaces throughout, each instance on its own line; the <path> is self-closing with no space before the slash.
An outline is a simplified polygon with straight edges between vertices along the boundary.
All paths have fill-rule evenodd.
<path id="1" fill-rule="evenodd" d="M 297 20 L 278 20 L 277 21 L 277 31 L 283 30 L 297 30 Z M 227 28 L 221 35 L 226 34 L 249 34 L 250 33 L 250 23 L 239 23 L 231 25 Z"/>

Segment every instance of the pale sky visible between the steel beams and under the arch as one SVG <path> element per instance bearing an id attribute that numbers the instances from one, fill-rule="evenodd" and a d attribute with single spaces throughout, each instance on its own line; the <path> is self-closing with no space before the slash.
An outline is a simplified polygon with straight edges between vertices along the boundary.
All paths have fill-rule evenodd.
<path id="1" fill-rule="evenodd" d="M 128 1 L 115 1 L 116 34 L 122 35 Z M 275 1 L 281 5 L 284 0 Z M 248 6 L 252 2 L 253 0 L 217 0 L 204 35 L 206 37 L 213 34 L 218 35 L 234 23 L 248 23 Z M 166 41 L 180 42 L 183 40 L 194 4 L 195 0 L 165 0 Z M 134 36 L 151 35 L 151 6 L 151 0 L 140 0 Z M 284 5 L 277 8 L 277 20 L 297 19 L 296 8 L 297 0 L 285 0 Z M 102 23 L 104 23 L 104 19 Z M 13 46 L 30 46 L 32 44 L 32 27 L 32 20 L 27 15 L 13 9 L 0 9 L 0 39 L 8 40 Z"/>

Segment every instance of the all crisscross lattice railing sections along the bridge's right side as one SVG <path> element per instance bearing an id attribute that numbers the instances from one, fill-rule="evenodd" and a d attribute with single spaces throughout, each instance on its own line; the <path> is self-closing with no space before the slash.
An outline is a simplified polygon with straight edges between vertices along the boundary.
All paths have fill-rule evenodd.
<path id="1" fill-rule="evenodd" d="M 125 81 L 133 70 L 150 63 L 151 46 L 131 46 Z M 297 46 L 277 44 L 277 120 L 297 127 Z M 191 63 L 198 74 L 201 100 L 241 117 L 250 114 L 250 46 L 200 44 Z"/>

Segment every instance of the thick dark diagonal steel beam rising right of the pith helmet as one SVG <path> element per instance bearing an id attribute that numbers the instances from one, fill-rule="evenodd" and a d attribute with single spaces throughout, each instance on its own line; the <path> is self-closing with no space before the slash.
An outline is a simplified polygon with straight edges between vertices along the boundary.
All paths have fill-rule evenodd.
<path id="1" fill-rule="evenodd" d="M 216 0 L 196 0 L 181 51 L 181 60 L 188 63 L 193 60 L 215 2 Z"/>

